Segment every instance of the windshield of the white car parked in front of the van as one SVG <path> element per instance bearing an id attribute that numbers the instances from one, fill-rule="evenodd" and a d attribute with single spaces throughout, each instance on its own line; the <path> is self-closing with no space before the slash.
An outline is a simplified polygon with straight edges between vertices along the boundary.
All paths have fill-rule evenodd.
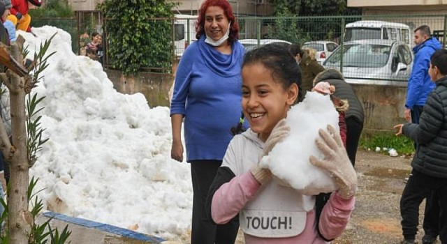
<path id="1" fill-rule="evenodd" d="M 337 48 L 332 55 L 326 59 L 326 66 L 340 66 L 341 48 Z M 360 68 L 379 68 L 386 65 L 390 56 L 390 46 L 362 44 L 344 45 L 343 66 Z"/>

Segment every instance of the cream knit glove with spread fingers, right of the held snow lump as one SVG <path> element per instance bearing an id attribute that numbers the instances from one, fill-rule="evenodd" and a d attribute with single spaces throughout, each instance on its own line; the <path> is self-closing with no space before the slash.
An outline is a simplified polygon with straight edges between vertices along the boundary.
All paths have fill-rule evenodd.
<path id="1" fill-rule="evenodd" d="M 320 129 L 320 138 L 316 139 L 316 146 L 324 155 L 323 160 L 310 156 L 312 165 L 329 172 L 337 185 L 341 197 L 349 199 L 356 195 L 357 174 L 346 154 L 342 138 L 331 125 L 328 131 Z"/>

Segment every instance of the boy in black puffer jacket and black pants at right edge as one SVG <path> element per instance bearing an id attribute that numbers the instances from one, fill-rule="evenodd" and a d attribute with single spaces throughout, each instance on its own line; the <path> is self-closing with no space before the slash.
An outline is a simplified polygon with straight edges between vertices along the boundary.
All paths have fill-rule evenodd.
<path id="1" fill-rule="evenodd" d="M 405 135 L 418 146 L 411 161 L 411 175 L 400 199 L 402 243 L 415 243 L 418 231 L 419 205 L 432 192 L 439 197 L 439 238 L 447 243 L 447 50 L 432 54 L 430 78 L 436 87 L 423 107 L 419 124 L 395 125 L 396 135 Z M 423 238 L 423 243 L 427 242 Z"/>

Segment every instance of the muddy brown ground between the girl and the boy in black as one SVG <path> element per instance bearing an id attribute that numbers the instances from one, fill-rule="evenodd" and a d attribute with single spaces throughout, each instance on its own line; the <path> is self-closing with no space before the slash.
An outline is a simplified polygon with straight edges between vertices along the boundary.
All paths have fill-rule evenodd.
<path id="1" fill-rule="evenodd" d="M 356 161 L 356 209 L 344 234 L 333 243 L 399 243 L 402 240 L 399 201 L 404 178 L 411 171 L 411 157 L 358 151 Z M 423 236 L 421 226 L 420 229 L 418 240 Z"/>

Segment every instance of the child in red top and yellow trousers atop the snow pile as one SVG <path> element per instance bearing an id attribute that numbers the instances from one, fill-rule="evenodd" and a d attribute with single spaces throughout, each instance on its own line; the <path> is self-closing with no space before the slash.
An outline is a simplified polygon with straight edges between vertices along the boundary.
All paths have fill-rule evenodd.
<path id="1" fill-rule="evenodd" d="M 29 7 L 40 7 L 42 0 L 11 0 L 13 8 L 10 9 L 8 20 L 13 22 L 17 30 L 27 31 L 31 23 L 31 15 L 28 14 Z"/>

